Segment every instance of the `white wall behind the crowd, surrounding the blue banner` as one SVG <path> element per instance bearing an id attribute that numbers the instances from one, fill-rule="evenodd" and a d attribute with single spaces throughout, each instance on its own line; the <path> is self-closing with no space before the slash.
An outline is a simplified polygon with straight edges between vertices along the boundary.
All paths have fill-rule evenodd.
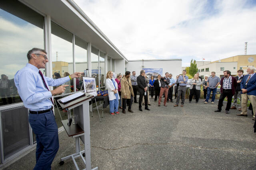
<path id="1" fill-rule="evenodd" d="M 182 60 L 181 59 L 170 59 L 170 60 L 144 60 L 144 67 L 142 67 L 142 60 L 129 61 L 126 64 L 127 71 L 136 71 L 136 75 L 140 75 L 140 70 L 143 68 L 162 68 L 163 74 L 169 72 L 175 78 L 176 75 L 182 72 Z M 162 75 L 163 76 L 163 75 Z"/>

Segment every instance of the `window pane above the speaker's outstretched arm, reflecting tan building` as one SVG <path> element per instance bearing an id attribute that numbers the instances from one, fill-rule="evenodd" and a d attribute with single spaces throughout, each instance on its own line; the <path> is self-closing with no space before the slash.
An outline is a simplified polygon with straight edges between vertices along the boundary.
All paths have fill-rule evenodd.
<path id="1" fill-rule="evenodd" d="M 52 27 L 52 77 L 64 77 L 64 73 L 73 74 L 72 33 L 51 22 Z M 66 75 L 66 73 L 65 73 Z M 70 85 L 70 81 L 67 82 Z M 54 87 L 55 89 L 56 87 Z M 71 92 L 70 86 L 65 93 Z"/>

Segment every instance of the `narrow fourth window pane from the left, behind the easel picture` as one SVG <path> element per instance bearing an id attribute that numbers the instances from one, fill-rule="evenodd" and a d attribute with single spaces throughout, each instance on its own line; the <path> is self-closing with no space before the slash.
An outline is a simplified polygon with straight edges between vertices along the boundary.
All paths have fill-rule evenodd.
<path id="1" fill-rule="evenodd" d="M 91 53 L 91 61 L 92 61 L 92 77 L 96 80 L 96 86 L 99 85 L 99 58 L 98 58 L 98 49 L 92 47 L 92 53 Z"/>

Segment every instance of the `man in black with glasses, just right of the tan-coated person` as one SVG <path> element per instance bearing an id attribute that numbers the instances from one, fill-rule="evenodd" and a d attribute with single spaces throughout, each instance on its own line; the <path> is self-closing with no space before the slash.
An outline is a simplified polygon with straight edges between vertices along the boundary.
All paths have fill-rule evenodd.
<path id="1" fill-rule="evenodd" d="M 145 79 L 145 70 L 140 70 L 140 75 L 137 77 L 137 83 L 138 83 L 138 90 L 140 92 L 140 98 L 139 98 L 139 110 L 142 111 L 141 108 L 141 102 L 142 102 L 142 98 L 144 96 L 144 100 L 145 100 L 145 110 L 150 110 L 148 108 L 148 87 L 146 84 L 146 79 Z"/>

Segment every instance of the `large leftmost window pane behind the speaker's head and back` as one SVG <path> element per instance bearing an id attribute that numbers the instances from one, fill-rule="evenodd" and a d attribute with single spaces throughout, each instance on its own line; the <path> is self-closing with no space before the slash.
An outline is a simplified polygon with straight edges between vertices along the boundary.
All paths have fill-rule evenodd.
<path id="1" fill-rule="evenodd" d="M 22 102 L 15 73 L 26 66 L 28 51 L 44 49 L 44 18 L 18 1 L 0 1 L 0 106 Z M 44 69 L 41 69 L 44 73 Z"/>

